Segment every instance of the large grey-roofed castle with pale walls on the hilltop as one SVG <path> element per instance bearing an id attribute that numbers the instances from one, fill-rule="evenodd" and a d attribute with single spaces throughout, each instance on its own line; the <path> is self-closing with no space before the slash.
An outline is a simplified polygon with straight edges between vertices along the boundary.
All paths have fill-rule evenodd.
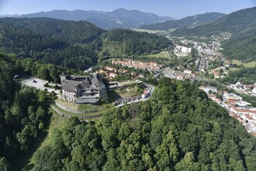
<path id="1" fill-rule="evenodd" d="M 62 98 L 68 102 L 96 104 L 108 99 L 105 84 L 99 74 L 74 76 L 63 72 L 61 75 Z"/>

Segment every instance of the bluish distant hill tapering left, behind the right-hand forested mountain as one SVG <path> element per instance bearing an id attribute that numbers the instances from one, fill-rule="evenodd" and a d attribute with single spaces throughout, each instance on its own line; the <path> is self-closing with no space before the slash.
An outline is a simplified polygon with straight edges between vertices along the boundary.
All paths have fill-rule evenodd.
<path id="1" fill-rule="evenodd" d="M 143 25 L 139 28 L 147 30 L 170 30 L 183 27 L 198 26 L 203 23 L 211 23 L 220 17 L 226 16 L 226 14 L 219 12 L 207 12 L 204 14 L 198 14 L 195 16 L 188 16 L 184 19 L 170 20 L 163 23 L 156 23 L 153 25 Z"/>

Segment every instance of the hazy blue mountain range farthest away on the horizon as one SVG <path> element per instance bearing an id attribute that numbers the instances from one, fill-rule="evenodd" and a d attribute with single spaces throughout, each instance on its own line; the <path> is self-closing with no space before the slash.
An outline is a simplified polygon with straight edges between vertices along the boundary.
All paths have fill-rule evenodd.
<path id="1" fill-rule="evenodd" d="M 149 12 L 140 12 L 138 10 L 116 9 L 111 12 L 101 11 L 67 11 L 53 10 L 49 12 L 37 12 L 32 14 L 24 14 L 21 16 L 13 16 L 19 18 L 47 17 L 53 19 L 65 20 L 86 20 L 103 29 L 138 27 L 144 24 L 161 23 L 174 18 L 167 16 L 157 16 Z"/>

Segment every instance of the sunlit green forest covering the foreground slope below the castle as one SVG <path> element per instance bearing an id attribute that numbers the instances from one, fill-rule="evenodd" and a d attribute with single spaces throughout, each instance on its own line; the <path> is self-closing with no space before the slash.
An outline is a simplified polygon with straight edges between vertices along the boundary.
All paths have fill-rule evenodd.
<path id="1" fill-rule="evenodd" d="M 160 79 L 146 103 L 66 120 L 33 170 L 255 170 L 256 141 L 189 82 Z"/>

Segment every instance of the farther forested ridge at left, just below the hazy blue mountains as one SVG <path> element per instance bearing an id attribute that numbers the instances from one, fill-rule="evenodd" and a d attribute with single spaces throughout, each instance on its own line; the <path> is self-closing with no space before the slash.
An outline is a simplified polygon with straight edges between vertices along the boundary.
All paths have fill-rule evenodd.
<path id="1" fill-rule="evenodd" d="M 50 18 L 2 18 L 0 24 L 26 28 L 44 37 L 58 38 L 71 44 L 90 43 L 105 32 L 86 21 L 75 22 Z"/>

